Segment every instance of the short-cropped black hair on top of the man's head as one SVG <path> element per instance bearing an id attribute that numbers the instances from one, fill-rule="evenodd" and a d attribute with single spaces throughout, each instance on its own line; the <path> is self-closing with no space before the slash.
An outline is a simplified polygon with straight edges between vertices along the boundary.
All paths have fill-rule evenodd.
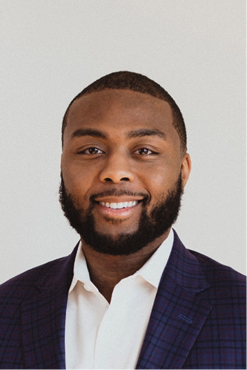
<path id="1" fill-rule="evenodd" d="M 70 110 L 70 106 L 75 100 L 79 99 L 83 95 L 88 95 L 95 93 L 97 91 L 103 91 L 106 89 L 121 89 L 121 90 L 132 90 L 138 93 L 152 95 L 152 97 L 157 97 L 167 101 L 172 110 L 173 126 L 177 133 L 179 134 L 181 150 L 186 152 L 187 137 L 186 137 L 186 126 L 184 124 L 184 118 L 181 114 L 179 107 L 172 97 L 168 94 L 164 88 L 162 88 L 157 82 L 152 81 L 148 77 L 135 72 L 120 71 L 112 72 L 110 75 L 106 75 L 92 82 L 89 86 L 84 88 L 81 93 L 79 93 L 68 106 L 66 113 L 63 117 L 62 125 L 62 143 L 63 143 L 63 133 L 67 125 L 67 117 Z"/>

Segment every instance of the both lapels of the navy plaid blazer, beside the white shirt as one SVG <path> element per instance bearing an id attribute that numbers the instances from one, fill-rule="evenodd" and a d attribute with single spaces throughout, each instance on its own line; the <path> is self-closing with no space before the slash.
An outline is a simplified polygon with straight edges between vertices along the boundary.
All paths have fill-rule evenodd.
<path id="1" fill-rule="evenodd" d="M 37 279 L 37 295 L 23 302 L 23 348 L 28 369 L 65 370 L 64 329 L 68 290 L 77 247 L 68 257 L 47 264 Z M 175 233 L 161 277 L 137 369 L 181 369 L 211 306 L 199 298 L 209 286 L 196 257 Z"/>

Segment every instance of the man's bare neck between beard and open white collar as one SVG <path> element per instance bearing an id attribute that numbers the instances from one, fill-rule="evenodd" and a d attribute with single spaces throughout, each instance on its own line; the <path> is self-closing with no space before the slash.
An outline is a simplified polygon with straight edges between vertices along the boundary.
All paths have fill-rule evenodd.
<path id="1" fill-rule="evenodd" d="M 106 255 L 99 253 L 90 246 L 83 245 L 83 253 L 86 257 L 90 279 L 103 297 L 110 303 L 112 291 L 120 280 L 133 275 L 141 269 L 141 266 L 151 257 L 162 242 L 168 237 L 168 230 L 164 235 L 157 238 L 141 251 L 130 255 Z"/>

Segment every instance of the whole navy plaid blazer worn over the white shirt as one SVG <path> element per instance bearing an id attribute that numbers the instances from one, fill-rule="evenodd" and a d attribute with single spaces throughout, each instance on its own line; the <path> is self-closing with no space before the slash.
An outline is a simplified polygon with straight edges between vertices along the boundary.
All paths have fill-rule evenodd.
<path id="1" fill-rule="evenodd" d="M 66 369 L 75 254 L 1 285 L 1 370 Z M 244 275 L 188 251 L 175 234 L 136 369 L 246 370 L 246 298 Z"/>

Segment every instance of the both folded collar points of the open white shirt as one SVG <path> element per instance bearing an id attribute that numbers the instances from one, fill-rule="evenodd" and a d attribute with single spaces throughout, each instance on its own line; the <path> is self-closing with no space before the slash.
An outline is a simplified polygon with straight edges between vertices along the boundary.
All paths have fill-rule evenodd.
<path id="1" fill-rule="evenodd" d="M 159 286 L 159 280 L 164 271 L 170 252 L 172 250 L 172 244 L 174 240 L 173 230 L 170 230 L 170 233 L 166 240 L 159 246 L 159 248 L 153 253 L 149 260 L 141 267 L 132 277 L 141 276 L 146 282 L 149 282 L 155 288 Z M 90 275 L 88 272 L 88 266 L 86 264 L 86 258 L 84 256 L 83 250 L 81 248 L 81 242 L 79 243 L 77 255 L 75 257 L 74 264 L 74 276 L 70 285 L 69 293 L 74 289 L 77 281 L 90 282 Z"/>

